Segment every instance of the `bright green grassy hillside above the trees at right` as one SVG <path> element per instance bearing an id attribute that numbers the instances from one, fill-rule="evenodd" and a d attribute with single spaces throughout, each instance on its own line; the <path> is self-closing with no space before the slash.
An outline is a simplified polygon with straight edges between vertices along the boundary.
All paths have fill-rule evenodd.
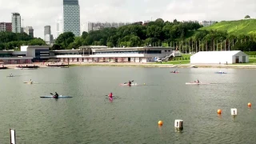
<path id="1" fill-rule="evenodd" d="M 256 19 L 245 19 L 239 21 L 222 21 L 212 26 L 202 27 L 199 30 L 222 30 L 228 34 L 255 34 L 256 35 Z"/>

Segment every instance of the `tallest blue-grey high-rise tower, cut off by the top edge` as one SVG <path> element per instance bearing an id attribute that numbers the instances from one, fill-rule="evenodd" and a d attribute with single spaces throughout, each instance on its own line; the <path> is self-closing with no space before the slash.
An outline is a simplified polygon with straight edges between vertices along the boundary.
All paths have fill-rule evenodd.
<path id="1" fill-rule="evenodd" d="M 63 0 L 63 32 L 80 35 L 80 6 L 78 0 Z"/>

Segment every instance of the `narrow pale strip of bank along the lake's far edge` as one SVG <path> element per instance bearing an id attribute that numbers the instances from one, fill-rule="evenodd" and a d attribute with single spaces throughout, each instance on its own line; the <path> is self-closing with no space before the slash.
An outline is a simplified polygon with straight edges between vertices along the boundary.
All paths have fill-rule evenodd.
<path id="1" fill-rule="evenodd" d="M 20 64 L 4 65 L 7 69 L 15 69 Z M 24 64 L 25 65 L 25 64 Z M 60 68 L 60 66 L 46 66 L 42 63 L 27 64 L 38 68 Z M 23 65 L 22 65 L 23 66 Z M 70 66 L 124 66 L 124 67 L 159 67 L 159 68 L 226 68 L 226 69 L 256 69 L 256 65 L 192 65 L 192 64 L 157 64 L 157 63 L 128 63 L 128 62 L 70 62 Z M 6 69 L 4 69 L 6 70 Z"/>

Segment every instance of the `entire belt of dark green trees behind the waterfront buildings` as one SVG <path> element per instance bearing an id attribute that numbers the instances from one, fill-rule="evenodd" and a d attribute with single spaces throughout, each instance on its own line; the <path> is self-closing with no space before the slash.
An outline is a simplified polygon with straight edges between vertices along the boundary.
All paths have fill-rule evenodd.
<path id="1" fill-rule="evenodd" d="M 182 53 L 206 50 L 243 50 L 256 51 L 255 35 L 233 35 L 227 31 L 200 30 L 198 22 L 163 21 L 158 18 L 146 25 L 137 22 L 118 28 L 104 28 L 82 36 L 73 33 L 60 34 L 52 50 L 77 49 L 80 46 L 172 46 Z M 46 45 L 41 38 L 31 38 L 26 33 L 14 34 L 0 32 L 0 50 L 14 49 L 23 45 Z"/>

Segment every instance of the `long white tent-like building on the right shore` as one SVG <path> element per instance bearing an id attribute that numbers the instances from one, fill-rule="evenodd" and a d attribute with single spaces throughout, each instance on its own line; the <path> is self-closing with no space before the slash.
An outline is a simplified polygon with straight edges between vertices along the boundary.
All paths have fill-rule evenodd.
<path id="1" fill-rule="evenodd" d="M 249 62 L 249 56 L 240 50 L 200 51 L 190 57 L 191 64 L 234 64 Z"/>

